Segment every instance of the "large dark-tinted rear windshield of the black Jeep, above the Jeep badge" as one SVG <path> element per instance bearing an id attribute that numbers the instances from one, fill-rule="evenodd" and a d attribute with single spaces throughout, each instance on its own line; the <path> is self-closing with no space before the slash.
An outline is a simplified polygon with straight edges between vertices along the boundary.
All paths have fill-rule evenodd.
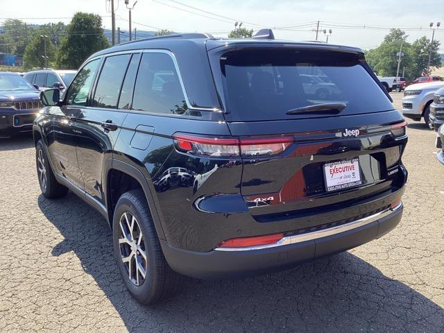
<path id="1" fill-rule="evenodd" d="M 221 70 L 228 121 L 293 119 L 302 115 L 287 111 L 318 103 L 345 103 L 341 115 L 393 110 L 354 54 L 232 51 L 221 57 Z"/>

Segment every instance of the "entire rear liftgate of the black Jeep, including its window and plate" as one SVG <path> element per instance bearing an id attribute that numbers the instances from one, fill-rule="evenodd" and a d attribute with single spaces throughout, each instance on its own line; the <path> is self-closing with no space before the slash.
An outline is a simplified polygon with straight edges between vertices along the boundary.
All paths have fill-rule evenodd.
<path id="1" fill-rule="evenodd" d="M 362 53 L 235 44 L 209 56 L 257 221 L 341 210 L 403 184 L 405 123 Z"/>

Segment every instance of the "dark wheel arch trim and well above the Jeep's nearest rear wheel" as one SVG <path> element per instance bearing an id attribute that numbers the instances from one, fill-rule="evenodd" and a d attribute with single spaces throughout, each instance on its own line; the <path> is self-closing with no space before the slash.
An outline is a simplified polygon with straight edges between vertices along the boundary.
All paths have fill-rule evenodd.
<path id="1" fill-rule="evenodd" d="M 157 212 L 157 207 L 153 198 L 152 190 L 148 185 L 148 180 L 146 180 L 142 171 L 137 169 L 131 164 L 123 162 L 121 160 L 110 159 L 107 160 L 105 168 L 105 188 L 104 192 L 106 195 L 106 207 L 108 210 L 108 220 L 110 222 L 110 227 L 112 228 L 112 221 L 114 216 L 114 207 L 117 203 L 118 197 L 125 191 L 130 191 L 131 189 L 140 188 L 144 191 L 146 202 L 148 203 L 148 208 L 153 217 L 153 222 L 155 225 L 155 230 L 157 232 L 157 237 L 160 239 L 165 239 L 164 230 L 162 228 L 162 223 L 160 222 L 160 216 Z M 120 178 L 119 178 L 120 177 Z M 123 177 L 123 178 L 121 178 Z M 121 179 L 125 182 L 128 188 L 116 189 L 116 186 L 121 184 Z M 122 192 L 123 191 L 123 192 Z"/>

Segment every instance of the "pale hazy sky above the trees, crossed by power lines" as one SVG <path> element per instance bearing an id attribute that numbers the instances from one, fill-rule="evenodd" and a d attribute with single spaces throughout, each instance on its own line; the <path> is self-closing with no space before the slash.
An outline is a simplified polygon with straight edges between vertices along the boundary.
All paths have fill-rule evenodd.
<path id="1" fill-rule="evenodd" d="M 116 26 L 128 31 L 128 10 L 114 0 Z M 130 4 L 134 0 L 130 0 Z M 432 37 L 430 22 L 442 22 L 435 39 L 444 52 L 444 0 L 138 0 L 133 28 L 153 31 L 205 32 L 226 37 L 234 22 L 253 28 L 272 28 L 277 39 L 325 41 L 323 29 L 332 29 L 329 42 L 373 49 L 389 28 L 404 28 L 409 42 Z M 0 24 L 6 18 L 28 23 L 69 23 L 74 12 L 94 12 L 111 28 L 110 0 L 0 0 Z M 197 8 L 197 9 L 196 9 Z M 365 28 L 364 28 L 365 27 Z M 142 36 L 141 36 L 142 37 Z"/>

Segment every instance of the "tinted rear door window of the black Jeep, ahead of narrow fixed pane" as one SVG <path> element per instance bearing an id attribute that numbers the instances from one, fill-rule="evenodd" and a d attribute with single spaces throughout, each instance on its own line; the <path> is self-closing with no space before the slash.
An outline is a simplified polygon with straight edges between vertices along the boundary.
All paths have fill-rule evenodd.
<path id="1" fill-rule="evenodd" d="M 96 108 L 117 108 L 123 76 L 130 61 L 130 54 L 110 56 L 105 59 L 92 106 Z"/>

